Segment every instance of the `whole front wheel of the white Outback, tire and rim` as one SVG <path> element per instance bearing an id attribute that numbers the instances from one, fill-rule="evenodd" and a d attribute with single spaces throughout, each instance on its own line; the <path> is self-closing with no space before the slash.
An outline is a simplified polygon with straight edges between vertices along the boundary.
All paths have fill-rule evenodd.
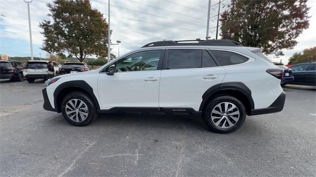
<path id="1" fill-rule="evenodd" d="M 83 92 L 73 92 L 66 95 L 61 109 L 64 118 L 75 126 L 90 124 L 96 113 L 92 98 Z"/>

